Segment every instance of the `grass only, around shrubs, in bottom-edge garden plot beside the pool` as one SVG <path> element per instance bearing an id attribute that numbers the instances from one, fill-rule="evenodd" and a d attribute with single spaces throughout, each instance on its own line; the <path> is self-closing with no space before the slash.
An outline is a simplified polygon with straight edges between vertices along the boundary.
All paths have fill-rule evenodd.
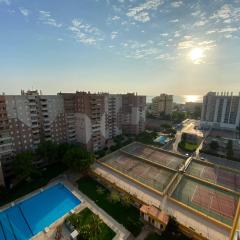
<path id="1" fill-rule="evenodd" d="M 92 236 L 91 240 L 113 239 L 116 233 L 111 228 L 109 228 L 104 222 L 102 222 L 100 218 L 97 215 L 95 215 L 89 208 L 85 208 L 80 213 L 74 214 L 74 216 L 73 215 L 70 216 L 69 220 L 76 227 L 76 229 L 78 229 L 78 226 L 80 226 L 79 232 L 81 235 L 81 228 L 86 229 L 90 227 L 89 232 L 90 233 L 92 232 L 92 234 L 94 233 L 93 225 L 96 227 L 97 224 L 96 224 L 96 220 L 95 222 L 93 221 L 93 218 L 95 219 L 97 218 L 98 221 L 100 221 L 100 224 L 98 225 L 99 228 L 95 228 L 95 230 L 97 229 L 97 231 L 95 232 L 95 236 L 94 235 Z M 83 237 L 83 239 L 89 239 L 89 236 L 85 238 Z"/>

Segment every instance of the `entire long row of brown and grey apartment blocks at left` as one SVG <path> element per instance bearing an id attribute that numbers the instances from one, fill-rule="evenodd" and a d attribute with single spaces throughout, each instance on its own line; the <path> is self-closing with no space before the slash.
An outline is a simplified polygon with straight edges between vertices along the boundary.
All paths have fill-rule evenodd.
<path id="1" fill-rule="evenodd" d="M 42 141 L 83 144 L 99 151 L 108 139 L 144 131 L 145 111 L 146 97 L 133 93 L 0 95 L 0 170 L 11 176 L 15 154 L 35 150 Z M 47 164 L 41 161 L 36 164 Z"/>

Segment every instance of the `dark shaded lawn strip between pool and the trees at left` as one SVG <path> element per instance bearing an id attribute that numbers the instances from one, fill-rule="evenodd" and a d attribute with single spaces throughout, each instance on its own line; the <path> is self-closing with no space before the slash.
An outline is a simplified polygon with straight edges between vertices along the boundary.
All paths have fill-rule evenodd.
<path id="1" fill-rule="evenodd" d="M 35 176 L 31 182 L 21 182 L 11 190 L 0 191 L 0 206 L 14 201 L 19 197 L 22 197 L 44 185 L 46 185 L 52 178 L 58 176 L 66 170 L 66 167 L 62 164 L 54 164 L 45 171 L 42 171 L 40 175 Z"/>

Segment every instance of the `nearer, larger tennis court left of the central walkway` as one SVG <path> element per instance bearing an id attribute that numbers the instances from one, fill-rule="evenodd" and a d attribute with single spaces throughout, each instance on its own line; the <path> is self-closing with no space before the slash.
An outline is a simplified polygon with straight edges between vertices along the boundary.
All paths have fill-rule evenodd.
<path id="1" fill-rule="evenodd" d="M 120 151 L 108 155 L 101 161 L 160 192 L 164 191 L 175 174 L 174 171 L 153 166 Z"/>

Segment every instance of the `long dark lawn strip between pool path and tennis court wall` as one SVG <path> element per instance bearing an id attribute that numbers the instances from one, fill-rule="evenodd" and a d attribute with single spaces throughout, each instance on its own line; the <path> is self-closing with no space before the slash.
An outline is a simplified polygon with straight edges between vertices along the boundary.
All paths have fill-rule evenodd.
<path id="1" fill-rule="evenodd" d="M 78 181 L 79 190 L 111 215 L 116 221 L 124 225 L 134 236 L 137 236 L 142 229 L 139 210 L 133 206 L 125 207 L 121 202 L 112 203 L 108 200 L 109 191 L 91 177 L 84 177 Z M 102 194 L 97 188 L 104 189 Z"/>

